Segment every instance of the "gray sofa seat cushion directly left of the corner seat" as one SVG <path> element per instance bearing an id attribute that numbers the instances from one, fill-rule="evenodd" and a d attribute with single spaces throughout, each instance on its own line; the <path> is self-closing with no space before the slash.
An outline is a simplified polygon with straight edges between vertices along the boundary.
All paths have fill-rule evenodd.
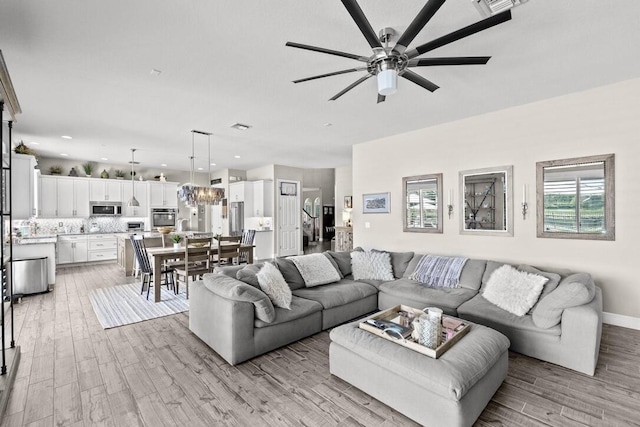
<path id="1" fill-rule="evenodd" d="M 319 302 L 325 310 L 361 300 L 376 293 L 377 289 L 371 285 L 347 279 L 329 285 L 293 291 L 297 297 Z"/>

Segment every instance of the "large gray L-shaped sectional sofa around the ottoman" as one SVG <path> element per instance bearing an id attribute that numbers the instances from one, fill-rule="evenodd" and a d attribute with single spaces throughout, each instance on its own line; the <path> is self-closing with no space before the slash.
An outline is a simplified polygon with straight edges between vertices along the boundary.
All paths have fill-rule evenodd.
<path id="1" fill-rule="evenodd" d="M 259 265 L 224 267 L 205 275 L 191 285 L 191 331 L 234 365 L 378 309 L 397 304 L 437 306 L 447 314 L 503 333 L 515 352 L 594 374 L 602 330 L 602 293 L 588 274 L 519 266 L 555 283 L 543 291 L 529 313 L 516 316 L 483 297 L 491 274 L 503 263 L 469 259 L 459 286 L 443 289 L 409 279 L 420 254 L 390 252 L 394 280 L 386 281 L 353 280 L 349 252 L 325 254 L 342 278 L 314 287 L 305 286 L 289 259 L 274 261 L 292 290 L 291 310 L 274 307 L 260 290 L 255 277 Z"/>

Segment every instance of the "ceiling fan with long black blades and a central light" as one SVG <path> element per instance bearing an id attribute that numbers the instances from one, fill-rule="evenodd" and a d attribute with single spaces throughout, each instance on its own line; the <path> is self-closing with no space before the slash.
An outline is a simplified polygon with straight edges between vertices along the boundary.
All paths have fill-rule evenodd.
<path id="1" fill-rule="evenodd" d="M 294 80 L 293 83 L 302 83 L 309 80 L 321 79 L 324 77 L 347 74 L 356 71 L 366 71 L 366 75 L 360 77 L 358 80 L 335 94 L 332 98 L 330 98 L 330 100 L 335 101 L 368 78 L 377 76 L 378 102 L 380 103 L 384 102 L 387 95 L 391 95 L 396 92 L 398 76 L 403 77 L 417 84 L 418 86 L 422 86 L 423 88 L 431 92 L 438 89 L 439 86 L 437 86 L 435 83 L 411 71 L 409 68 L 441 65 L 486 64 L 491 58 L 490 56 L 456 56 L 444 58 L 418 58 L 418 56 L 449 43 L 453 43 L 464 37 L 468 37 L 480 31 L 491 28 L 495 25 L 509 21 L 511 19 L 510 10 L 491 16 L 490 18 L 483 19 L 482 21 L 476 22 L 475 24 L 471 24 L 467 27 L 446 34 L 435 40 L 431 40 L 430 42 L 421 44 L 420 46 L 416 46 L 413 49 L 407 50 L 407 47 L 411 44 L 413 39 L 424 28 L 429 20 L 431 20 L 433 15 L 435 15 L 435 13 L 438 11 L 438 9 L 440 9 L 445 1 L 446 0 L 429 0 L 424 5 L 420 13 L 418 13 L 418 15 L 413 19 L 407 30 L 400 36 L 395 46 L 393 48 L 390 48 L 389 40 L 393 35 L 395 35 L 395 31 L 392 28 L 384 28 L 380 31 L 380 35 L 377 36 L 373 31 L 371 24 L 367 20 L 367 17 L 364 15 L 364 12 L 362 12 L 362 9 L 358 5 L 357 1 L 342 0 L 342 4 L 344 4 L 345 8 L 355 21 L 358 28 L 360 28 L 360 31 L 367 39 L 367 42 L 371 46 L 371 49 L 373 49 L 373 55 L 362 56 L 353 53 L 326 49 L 323 47 L 287 42 L 286 45 L 290 47 L 312 50 L 314 52 L 326 53 L 329 55 L 341 56 L 365 63 L 361 67 L 348 68 L 346 70 L 334 71 L 332 73 L 320 74 L 317 76 Z M 385 46 L 382 45 L 383 42 L 385 43 Z"/>

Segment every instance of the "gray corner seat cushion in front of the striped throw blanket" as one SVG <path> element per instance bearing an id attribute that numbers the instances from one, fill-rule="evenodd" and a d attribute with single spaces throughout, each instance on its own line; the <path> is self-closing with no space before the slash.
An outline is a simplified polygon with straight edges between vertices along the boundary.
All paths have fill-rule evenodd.
<path id="1" fill-rule="evenodd" d="M 437 306 L 448 313 L 455 313 L 460 304 L 477 294 L 476 291 L 466 288 L 429 288 L 407 278 L 381 284 L 380 292 L 423 304 L 422 307 L 414 308 Z"/>

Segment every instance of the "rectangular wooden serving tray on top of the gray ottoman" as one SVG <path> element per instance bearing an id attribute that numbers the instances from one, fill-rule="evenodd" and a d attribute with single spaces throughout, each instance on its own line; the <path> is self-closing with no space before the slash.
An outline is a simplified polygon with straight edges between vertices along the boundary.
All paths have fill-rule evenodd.
<path id="1" fill-rule="evenodd" d="M 422 310 L 418 310 L 417 308 L 409 307 L 407 305 L 396 305 L 395 307 L 391 307 L 387 310 L 372 314 L 369 317 L 365 317 L 364 319 L 362 319 L 362 321 L 359 324 L 360 329 L 364 329 L 367 332 L 371 332 L 372 334 L 375 334 L 381 338 L 384 338 L 389 341 L 393 341 L 396 344 L 410 348 L 411 350 L 417 351 L 418 353 L 422 353 L 434 359 L 437 359 L 438 357 L 442 356 L 444 352 L 449 350 L 456 342 L 460 341 L 460 339 L 463 336 L 465 336 L 467 332 L 469 332 L 469 330 L 471 329 L 471 325 L 461 319 L 455 318 L 453 316 L 446 316 L 446 315 L 442 316 L 443 322 L 446 322 L 445 320 L 446 318 L 462 322 L 462 328 L 455 331 L 451 338 L 449 338 L 447 341 L 444 341 L 434 350 L 417 343 L 411 337 L 406 339 L 399 339 L 398 337 L 394 337 L 392 335 L 387 334 L 384 331 L 381 331 L 375 326 L 365 323 L 365 320 L 368 320 L 368 319 L 379 319 L 379 320 L 387 320 L 387 321 L 393 322 L 398 318 L 399 316 L 398 313 L 400 311 L 407 311 L 407 312 L 412 311 L 416 314 L 416 317 L 420 316 L 421 314 L 424 314 Z"/>

